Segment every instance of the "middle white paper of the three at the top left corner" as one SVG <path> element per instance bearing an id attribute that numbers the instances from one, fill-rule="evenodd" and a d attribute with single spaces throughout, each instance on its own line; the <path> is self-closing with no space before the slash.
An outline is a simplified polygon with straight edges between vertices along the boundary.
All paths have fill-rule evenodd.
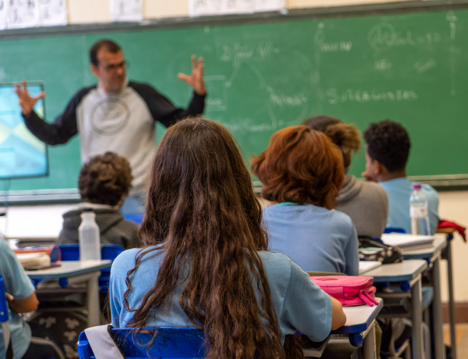
<path id="1" fill-rule="evenodd" d="M 37 0 L 6 0 L 4 3 L 6 4 L 6 27 L 8 29 L 39 26 Z"/>

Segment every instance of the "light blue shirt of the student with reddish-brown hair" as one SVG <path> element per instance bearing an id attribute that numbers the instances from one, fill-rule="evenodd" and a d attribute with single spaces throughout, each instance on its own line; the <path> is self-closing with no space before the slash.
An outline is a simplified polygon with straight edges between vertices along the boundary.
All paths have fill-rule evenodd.
<path id="1" fill-rule="evenodd" d="M 263 210 L 263 225 L 270 250 L 287 254 L 302 269 L 359 275 L 359 240 L 347 214 L 280 203 Z"/>

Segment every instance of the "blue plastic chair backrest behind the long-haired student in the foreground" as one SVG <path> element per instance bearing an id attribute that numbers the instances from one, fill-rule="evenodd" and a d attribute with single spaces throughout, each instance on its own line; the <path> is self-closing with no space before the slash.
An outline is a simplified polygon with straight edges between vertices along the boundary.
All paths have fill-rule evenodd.
<path id="1" fill-rule="evenodd" d="M 154 328 L 148 328 L 149 331 Z M 205 358 L 203 329 L 196 328 L 158 328 L 158 334 L 149 347 L 139 343 L 148 343 L 151 334 L 138 333 L 135 329 L 112 329 L 112 336 L 123 356 L 131 358 Z M 93 350 L 81 332 L 78 337 L 78 355 L 80 359 L 94 358 Z"/>

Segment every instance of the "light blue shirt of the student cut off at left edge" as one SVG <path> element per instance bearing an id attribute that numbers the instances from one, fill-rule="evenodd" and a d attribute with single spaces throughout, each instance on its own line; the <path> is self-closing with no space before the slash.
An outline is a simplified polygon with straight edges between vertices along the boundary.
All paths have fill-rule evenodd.
<path id="1" fill-rule="evenodd" d="M 0 274 L 5 285 L 5 292 L 13 295 L 15 299 L 26 299 L 34 293 L 34 286 L 21 266 L 15 252 L 8 244 L 0 238 Z M 31 328 L 16 313 L 8 309 L 10 323 L 11 343 L 13 346 L 13 357 L 21 359 L 26 353 L 31 341 Z M 3 331 L 0 327 L 0 337 L 3 338 Z M 5 358 L 6 349 L 3 339 L 0 340 L 0 358 Z"/>

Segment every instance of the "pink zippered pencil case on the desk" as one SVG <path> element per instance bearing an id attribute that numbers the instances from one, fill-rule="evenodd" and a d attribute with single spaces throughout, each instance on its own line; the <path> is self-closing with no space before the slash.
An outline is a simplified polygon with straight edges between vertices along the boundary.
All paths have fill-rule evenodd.
<path id="1" fill-rule="evenodd" d="M 375 301 L 375 287 L 373 277 L 352 275 L 328 275 L 315 277 L 310 280 L 327 294 L 336 298 L 344 307 L 367 304 L 370 307 L 378 304 Z"/>

